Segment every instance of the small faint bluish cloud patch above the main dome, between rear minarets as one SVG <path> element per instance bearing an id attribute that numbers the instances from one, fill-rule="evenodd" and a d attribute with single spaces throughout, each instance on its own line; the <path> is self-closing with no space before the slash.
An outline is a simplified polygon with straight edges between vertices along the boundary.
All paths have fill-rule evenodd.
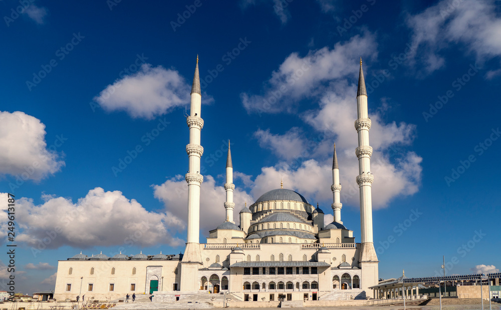
<path id="1" fill-rule="evenodd" d="M 258 139 L 262 148 L 270 149 L 286 160 L 301 156 L 306 147 L 301 129 L 298 127 L 291 128 L 283 135 L 274 135 L 269 129 L 259 129 L 254 133 L 254 137 Z"/>

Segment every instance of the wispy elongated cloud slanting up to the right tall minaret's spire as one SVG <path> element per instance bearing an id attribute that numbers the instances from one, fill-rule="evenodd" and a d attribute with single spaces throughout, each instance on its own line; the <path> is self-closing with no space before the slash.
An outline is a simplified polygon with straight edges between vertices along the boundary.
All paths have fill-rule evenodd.
<path id="1" fill-rule="evenodd" d="M 300 57 L 292 53 L 265 83 L 263 95 L 241 93 L 240 99 L 248 113 L 293 112 L 301 99 L 322 94 L 322 86 L 347 76 L 356 77 L 358 59 L 376 57 L 375 35 L 365 32 L 347 42 L 337 43 L 331 50 L 324 47 Z"/>

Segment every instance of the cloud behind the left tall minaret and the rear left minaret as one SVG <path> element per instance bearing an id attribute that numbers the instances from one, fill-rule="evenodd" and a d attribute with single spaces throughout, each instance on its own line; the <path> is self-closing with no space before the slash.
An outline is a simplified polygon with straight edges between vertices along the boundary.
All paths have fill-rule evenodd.
<path id="1" fill-rule="evenodd" d="M 165 204 L 165 209 L 172 217 L 182 223 L 187 223 L 188 186 L 184 177 L 177 175 L 161 185 L 154 185 L 155 197 Z M 226 220 L 224 202 L 226 192 L 223 184 L 216 184 L 210 175 L 204 176 L 200 186 L 200 230 L 206 233 Z M 243 208 L 244 202 L 254 202 L 253 198 L 245 191 L 235 188 L 233 192 L 235 208 L 233 221 L 239 224 L 238 212 Z"/>

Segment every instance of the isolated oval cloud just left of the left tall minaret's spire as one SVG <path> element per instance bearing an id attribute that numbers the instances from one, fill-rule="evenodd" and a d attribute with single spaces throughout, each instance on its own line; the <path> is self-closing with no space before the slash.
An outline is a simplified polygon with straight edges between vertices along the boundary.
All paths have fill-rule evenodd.
<path id="1" fill-rule="evenodd" d="M 190 84 L 173 69 L 143 64 L 133 75 L 108 85 L 94 100 L 106 111 L 126 111 L 133 118 L 153 119 L 189 104 Z"/>

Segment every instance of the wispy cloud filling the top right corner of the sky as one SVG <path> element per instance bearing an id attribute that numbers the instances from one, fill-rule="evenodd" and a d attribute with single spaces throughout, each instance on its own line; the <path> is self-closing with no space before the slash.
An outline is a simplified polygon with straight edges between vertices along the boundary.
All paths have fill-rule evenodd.
<path id="1" fill-rule="evenodd" d="M 478 62 L 501 55 L 501 20 L 494 2 L 442 0 L 408 15 L 406 23 L 412 31 L 413 47 L 408 63 L 423 68 L 423 75 L 443 68 L 441 51 L 455 44 L 464 45 Z"/>

